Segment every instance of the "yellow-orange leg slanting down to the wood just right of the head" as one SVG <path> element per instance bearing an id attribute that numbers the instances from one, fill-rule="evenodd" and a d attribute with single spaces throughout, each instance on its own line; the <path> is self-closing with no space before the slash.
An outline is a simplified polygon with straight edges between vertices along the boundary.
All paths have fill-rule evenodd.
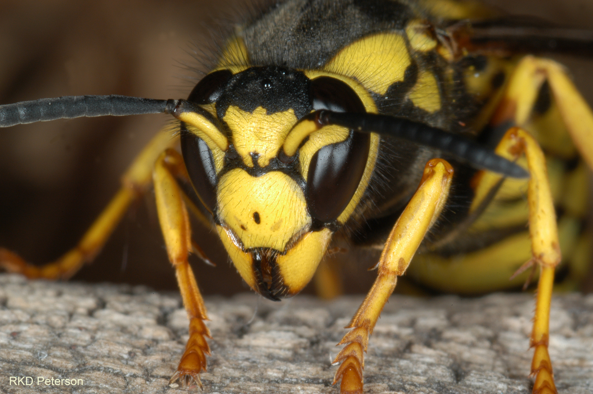
<path id="1" fill-rule="evenodd" d="M 333 381 L 335 384 L 342 380 L 340 393 L 362 393 L 364 352 L 369 335 L 396 287 L 397 277 L 406 271 L 426 232 L 441 213 L 452 177 L 453 169 L 446 161 L 429 161 L 418 190 L 393 226 L 377 264 L 377 280 L 346 326 L 352 330 L 338 344 L 346 345 L 333 361 L 334 364 L 342 363 Z"/>

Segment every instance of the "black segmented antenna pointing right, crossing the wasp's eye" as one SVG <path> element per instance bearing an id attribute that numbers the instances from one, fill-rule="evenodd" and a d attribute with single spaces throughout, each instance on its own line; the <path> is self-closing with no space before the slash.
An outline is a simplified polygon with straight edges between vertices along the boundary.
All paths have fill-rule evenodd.
<path id="1" fill-rule="evenodd" d="M 440 149 L 480 169 L 498 172 L 512 178 L 528 178 L 528 172 L 489 148 L 458 134 L 418 123 L 405 118 L 379 114 L 318 112 L 321 124 L 337 124 L 360 132 L 375 132 L 406 139 L 420 145 Z"/>

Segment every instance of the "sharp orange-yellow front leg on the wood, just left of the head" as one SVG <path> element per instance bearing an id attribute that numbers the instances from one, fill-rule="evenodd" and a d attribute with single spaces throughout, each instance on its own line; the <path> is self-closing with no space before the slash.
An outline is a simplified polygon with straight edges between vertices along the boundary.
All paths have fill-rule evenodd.
<path id="1" fill-rule="evenodd" d="M 181 386 L 187 388 L 196 385 L 202 387 L 199 373 L 206 370 L 206 355 L 210 354 L 206 338 L 211 337 L 210 331 L 204 324 L 208 319 L 206 307 L 197 288 L 192 268 L 187 261 L 187 256 L 193 248 L 191 230 L 183 192 L 176 181 L 176 175 L 183 174 L 184 171 L 181 155 L 173 149 L 167 149 L 157 159 L 152 176 L 158 220 L 190 321 L 186 350 L 170 383 L 179 380 Z"/>

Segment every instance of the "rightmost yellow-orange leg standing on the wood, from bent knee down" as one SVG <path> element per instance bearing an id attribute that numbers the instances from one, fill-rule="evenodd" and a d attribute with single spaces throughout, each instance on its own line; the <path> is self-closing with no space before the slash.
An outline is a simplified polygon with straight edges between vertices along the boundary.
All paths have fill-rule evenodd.
<path id="1" fill-rule="evenodd" d="M 499 143 L 496 152 L 514 160 L 525 153 L 530 172 L 527 190 L 529 231 L 533 257 L 526 266 L 537 264 L 540 278 L 537 287 L 531 347 L 535 348 L 531 374 L 535 375 L 534 394 L 556 393 L 548 338 L 550 334 L 550 302 L 554 284 L 554 268 L 562 260 L 556 225 L 556 211 L 547 178 L 546 159 L 537 142 L 519 127 L 512 127 Z"/>

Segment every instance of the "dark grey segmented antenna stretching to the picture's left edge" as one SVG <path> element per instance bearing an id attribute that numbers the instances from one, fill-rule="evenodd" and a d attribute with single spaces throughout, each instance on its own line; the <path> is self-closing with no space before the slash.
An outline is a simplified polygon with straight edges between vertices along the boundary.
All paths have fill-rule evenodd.
<path id="1" fill-rule="evenodd" d="M 0 105 L 0 127 L 83 116 L 127 116 L 171 113 L 177 100 L 120 95 L 86 95 L 42 98 Z"/>

